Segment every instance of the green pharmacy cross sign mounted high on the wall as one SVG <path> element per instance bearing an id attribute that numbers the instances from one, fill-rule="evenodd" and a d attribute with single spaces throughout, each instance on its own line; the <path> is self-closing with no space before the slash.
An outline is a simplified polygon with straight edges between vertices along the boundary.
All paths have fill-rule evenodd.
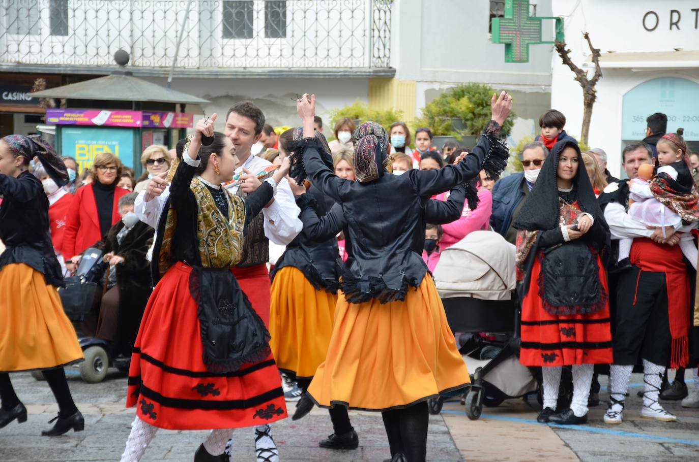
<path id="1" fill-rule="evenodd" d="M 556 21 L 556 40 L 563 41 L 563 19 L 530 16 L 529 0 L 505 0 L 505 17 L 493 17 L 493 43 L 505 44 L 505 62 L 528 63 L 529 45 L 554 43 L 542 40 L 542 20 Z"/>

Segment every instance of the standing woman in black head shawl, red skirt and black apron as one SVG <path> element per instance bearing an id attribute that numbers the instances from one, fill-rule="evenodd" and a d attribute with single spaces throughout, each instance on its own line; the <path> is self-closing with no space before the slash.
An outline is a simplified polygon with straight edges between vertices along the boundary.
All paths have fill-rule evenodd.
<path id="1" fill-rule="evenodd" d="M 609 290 L 603 263 L 610 231 L 572 140 L 554 146 L 524 202 L 517 228 L 525 366 L 542 366 L 538 422 L 587 422 L 593 364 L 612 362 Z M 570 408 L 556 414 L 562 366 L 572 365 Z"/>

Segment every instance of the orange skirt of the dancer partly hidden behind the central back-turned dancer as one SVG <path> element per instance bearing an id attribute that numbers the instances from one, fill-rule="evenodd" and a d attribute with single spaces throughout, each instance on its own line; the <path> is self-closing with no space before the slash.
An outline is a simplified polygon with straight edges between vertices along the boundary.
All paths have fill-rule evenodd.
<path id="1" fill-rule="evenodd" d="M 315 288 L 296 267 L 277 271 L 272 283 L 269 345 L 280 371 L 295 378 L 312 378 L 325 361 L 336 294 Z"/>

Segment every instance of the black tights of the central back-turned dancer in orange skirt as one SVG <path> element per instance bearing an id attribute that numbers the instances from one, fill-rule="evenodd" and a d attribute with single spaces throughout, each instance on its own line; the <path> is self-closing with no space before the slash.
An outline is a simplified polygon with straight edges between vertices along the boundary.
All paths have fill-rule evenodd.
<path id="1" fill-rule="evenodd" d="M 391 457 L 403 453 L 408 462 L 424 462 L 427 456 L 427 402 L 410 408 L 381 412 L 389 438 Z"/>

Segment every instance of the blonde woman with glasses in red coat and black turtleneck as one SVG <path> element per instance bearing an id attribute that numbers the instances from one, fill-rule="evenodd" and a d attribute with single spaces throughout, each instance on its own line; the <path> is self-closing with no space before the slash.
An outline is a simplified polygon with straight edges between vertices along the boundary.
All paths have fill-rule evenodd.
<path id="1" fill-rule="evenodd" d="M 75 191 L 68 212 L 68 225 L 63 237 L 66 257 L 78 256 L 121 220 L 119 199 L 129 193 L 129 190 L 117 186 L 121 176 L 122 162 L 117 156 L 103 152 L 94 158 L 94 164 L 90 167 L 92 182 Z M 75 264 L 66 262 L 66 268 L 74 271 Z"/>

